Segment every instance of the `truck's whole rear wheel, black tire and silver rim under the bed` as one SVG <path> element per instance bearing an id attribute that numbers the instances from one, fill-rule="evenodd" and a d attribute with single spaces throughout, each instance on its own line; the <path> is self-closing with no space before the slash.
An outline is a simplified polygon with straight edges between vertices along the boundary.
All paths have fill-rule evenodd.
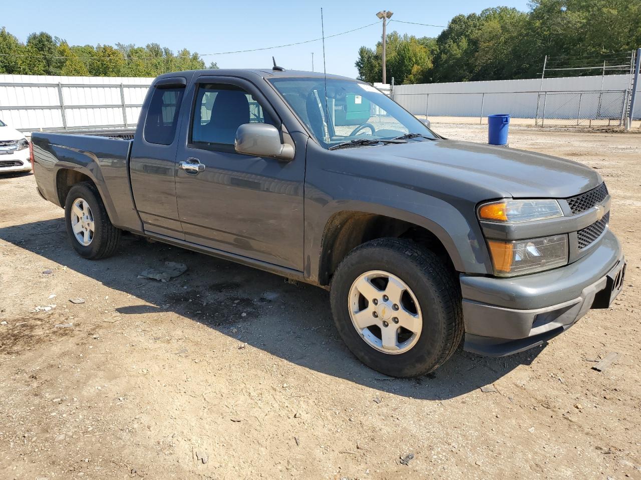
<path id="1" fill-rule="evenodd" d="M 88 210 L 84 212 L 88 213 L 89 218 L 92 219 L 90 223 L 83 224 L 93 227 L 92 234 L 88 237 L 88 241 L 85 241 L 85 244 L 74 232 L 74 225 L 79 223 L 79 216 L 74 212 L 74 204 L 79 200 L 83 202 L 79 204 L 81 206 L 80 210 L 82 211 L 82 207 L 85 207 L 84 202 L 86 202 Z M 85 259 L 98 260 L 110 257 L 118 247 L 121 230 L 114 227 L 109 220 L 107 211 L 104 209 L 103 200 L 100 198 L 100 194 L 94 184 L 80 182 L 69 190 L 67 200 L 65 200 L 65 225 L 71 245 Z M 82 230 L 82 232 L 85 230 Z M 82 233 L 79 234 L 82 236 Z"/>

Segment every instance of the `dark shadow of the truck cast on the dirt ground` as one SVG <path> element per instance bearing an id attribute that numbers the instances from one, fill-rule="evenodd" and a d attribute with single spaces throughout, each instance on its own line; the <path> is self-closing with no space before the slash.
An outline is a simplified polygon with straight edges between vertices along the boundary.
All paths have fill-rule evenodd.
<path id="1" fill-rule="evenodd" d="M 133 235 L 123 237 L 114 257 L 85 260 L 67 242 L 62 218 L 0 228 L 0 239 L 153 305 L 116 307 L 122 321 L 175 312 L 294 364 L 399 396 L 457 397 L 529 365 L 543 348 L 504 358 L 458 349 L 434 374 L 399 380 L 365 367 L 349 352 L 334 328 L 328 292 L 312 285 L 287 284 L 277 275 Z M 188 270 L 167 283 L 138 278 L 165 261 L 183 262 Z"/>

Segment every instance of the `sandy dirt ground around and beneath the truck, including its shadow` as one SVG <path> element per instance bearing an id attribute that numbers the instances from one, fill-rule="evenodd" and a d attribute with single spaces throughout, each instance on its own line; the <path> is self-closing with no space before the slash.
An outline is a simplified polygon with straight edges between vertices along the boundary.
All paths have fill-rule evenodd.
<path id="1" fill-rule="evenodd" d="M 360 364 L 322 289 L 135 236 L 81 259 L 33 175 L 0 178 L 0 478 L 641 479 L 641 134 L 510 145 L 603 175 L 624 291 L 545 347 L 417 380 Z M 188 271 L 138 278 L 165 260 Z"/>

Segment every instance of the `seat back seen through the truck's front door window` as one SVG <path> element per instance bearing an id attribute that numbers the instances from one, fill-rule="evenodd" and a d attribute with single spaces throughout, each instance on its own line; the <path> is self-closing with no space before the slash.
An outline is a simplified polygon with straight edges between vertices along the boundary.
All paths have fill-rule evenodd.
<path id="1" fill-rule="evenodd" d="M 203 141 L 233 145 L 236 131 L 243 124 L 249 124 L 246 93 L 221 90 L 213 100 L 212 118 L 203 126 Z"/>

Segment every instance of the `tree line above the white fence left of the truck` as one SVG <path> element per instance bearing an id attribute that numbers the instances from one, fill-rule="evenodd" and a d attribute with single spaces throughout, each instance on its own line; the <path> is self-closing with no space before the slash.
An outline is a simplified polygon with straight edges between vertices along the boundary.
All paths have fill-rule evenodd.
<path id="1" fill-rule="evenodd" d="M 0 74 L 98 77 L 155 77 L 167 72 L 205 68 L 197 52 L 135 45 L 69 45 L 46 32 L 32 33 L 22 43 L 0 29 Z M 208 68 L 218 68 L 212 62 Z"/>

